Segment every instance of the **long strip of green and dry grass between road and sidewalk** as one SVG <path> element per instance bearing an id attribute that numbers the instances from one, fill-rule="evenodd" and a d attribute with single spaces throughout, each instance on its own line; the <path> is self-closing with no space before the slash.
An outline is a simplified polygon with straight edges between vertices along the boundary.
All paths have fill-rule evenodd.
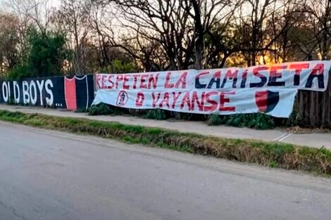
<path id="1" fill-rule="evenodd" d="M 0 110 L 0 119 L 44 129 L 112 138 L 128 143 L 331 175 L 331 151 L 287 143 L 218 138 L 179 131 Z"/>

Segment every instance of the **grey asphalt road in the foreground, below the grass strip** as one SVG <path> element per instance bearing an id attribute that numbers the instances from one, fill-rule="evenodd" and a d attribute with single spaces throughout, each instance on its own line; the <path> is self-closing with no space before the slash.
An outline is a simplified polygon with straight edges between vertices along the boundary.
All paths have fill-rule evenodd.
<path id="1" fill-rule="evenodd" d="M 0 219 L 330 220 L 331 179 L 0 122 Z"/>

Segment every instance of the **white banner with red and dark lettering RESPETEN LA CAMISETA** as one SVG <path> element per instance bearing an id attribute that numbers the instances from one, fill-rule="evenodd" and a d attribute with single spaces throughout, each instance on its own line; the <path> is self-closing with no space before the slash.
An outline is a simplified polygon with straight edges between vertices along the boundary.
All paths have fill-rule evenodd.
<path id="1" fill-rule="evenodd" d="M 248 68 L 96 75 L 94 105 L 289 117 L 298 89 L 325 91 L 330 61 Z"/>

